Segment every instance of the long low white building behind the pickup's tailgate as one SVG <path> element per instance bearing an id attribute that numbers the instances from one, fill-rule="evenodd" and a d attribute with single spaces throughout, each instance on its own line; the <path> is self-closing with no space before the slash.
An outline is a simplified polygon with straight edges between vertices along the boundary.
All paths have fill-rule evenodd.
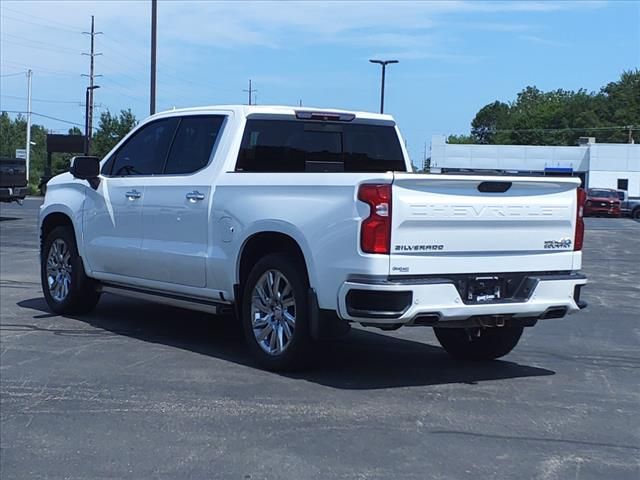
<path id="1" fill-rule="evenodd" d="M 460 145 L 431 139 L 434 173 L 482 171 L 532 175 L 571 175 L 587 188 L 627 190 L 640 197 L 640 144 L 596 143 L 585 138 L 575 147 L 536 145 Z"/>

